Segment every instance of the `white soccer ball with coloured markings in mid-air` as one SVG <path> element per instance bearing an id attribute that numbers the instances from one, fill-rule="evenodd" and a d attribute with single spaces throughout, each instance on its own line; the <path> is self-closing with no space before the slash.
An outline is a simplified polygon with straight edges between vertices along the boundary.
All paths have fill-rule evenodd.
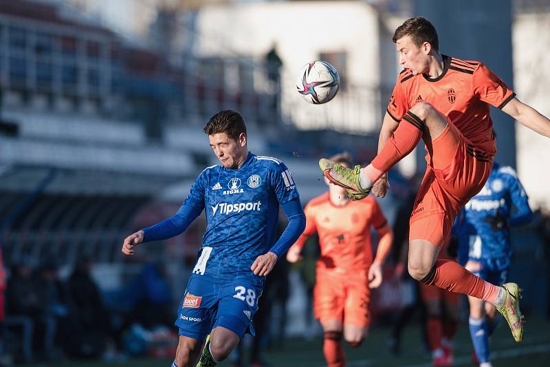
<path id="1" fill-rule="evenodd" d="M 312 104 L 327 103 L 336 96 L 340 76 L 327 61 L 311 61 L 304 65 L 296 80 L 298 93 Z"/>

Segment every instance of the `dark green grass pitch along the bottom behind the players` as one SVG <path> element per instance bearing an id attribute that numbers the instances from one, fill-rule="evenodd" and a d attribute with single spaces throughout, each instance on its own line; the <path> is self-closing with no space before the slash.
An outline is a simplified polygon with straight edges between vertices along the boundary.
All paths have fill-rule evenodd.
<path id="1" fill-rule="evenodd" d="M 493 364 L 498 367 L 550 366 L 550 322 L 527 320 L 524 341 L 514 342 L 505 324 L 500 324 L 492 338 Z M 417 326 L 406 329 L 401 346 L 401 355 L 394 357 L 388 352 L 386 340 L 388 329 L 373 328 L 369 338 L 359 348 L 345 346 L 349 367 L 360 366 L 431 366 L 430 356 L 424 351 Z M 461 324 L 456 333 L 454 366 L 473 366 L 470 362 L 472 343 L 467 324 Z M 285 340 L 284 348 L 265 351 L 264 359 L 272 366 L 317 367 L 325 366 L 322 357 L 322 340 Z M 56 364 L 32 364 L 32 366 L 74 366 L 74 367 L 168 367 L 171 359 L 131 359 L 127 362 L 65 362 Z M 28 365 L 31 366 L 31 365 Z M 219 366 L 231 366 L 223 362 Z"/>

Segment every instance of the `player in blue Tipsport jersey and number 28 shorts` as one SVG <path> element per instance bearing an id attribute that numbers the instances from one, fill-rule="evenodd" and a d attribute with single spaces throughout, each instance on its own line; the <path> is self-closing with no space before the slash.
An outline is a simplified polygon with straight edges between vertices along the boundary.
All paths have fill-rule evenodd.
<path id="1" fill-rule="evenodd" d="M 197 366 L 215 366 L 247 330 L 253 333 L 265 276 L 305 228 L 292 175 L 280 160 L 248 151 L 239 113 L 221 111 L 203 131 L 221 165 L 202 171 L 174 216 L 131 234 L 122 245 L 131 255 L 139 243 L 181 234 L 205 211 L 206 232 L 175 322 L 175 367 L 192 366 L 204 340 Z M 289 223 L 276 241 L 279 205 Z"/>

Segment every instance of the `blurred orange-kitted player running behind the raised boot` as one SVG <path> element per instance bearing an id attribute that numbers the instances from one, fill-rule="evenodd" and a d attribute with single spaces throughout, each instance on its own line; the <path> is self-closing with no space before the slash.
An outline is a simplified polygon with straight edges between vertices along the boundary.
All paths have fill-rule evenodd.
<path id="1" fill-rule="evenodd" d="M 333 160 L 351 165 L 347 153 Z M 327 185 L 329 182 L 327 179 Z M 315 232 L 321 249 L 314 289 L 314 315 L 324 331 L 323 353 L 329 367 L 346 365 L 342 335 L 360 346 L 369 331 L 371 288 L 382 283 L 382 263 L 391 249 L 393 232 L 373 197 L 351 201 L 340 186 L 309 201 L 306 228 L 287 252 L 287 260 L 300 260 L 305 241 Z M 371 227 L 380 234 L 373 260 Z"/>

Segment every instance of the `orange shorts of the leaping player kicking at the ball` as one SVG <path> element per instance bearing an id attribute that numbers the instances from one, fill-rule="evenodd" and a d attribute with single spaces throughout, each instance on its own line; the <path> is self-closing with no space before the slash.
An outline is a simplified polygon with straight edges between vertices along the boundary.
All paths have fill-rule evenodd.
<path id="1" fill-rule="evenodd" d="M 441 249 L 456 214 L 485 185 L 493 158 L 474 148 L 451 122 L 431 145 L 410 214 L 409 240 L 428 240 Z"/>

